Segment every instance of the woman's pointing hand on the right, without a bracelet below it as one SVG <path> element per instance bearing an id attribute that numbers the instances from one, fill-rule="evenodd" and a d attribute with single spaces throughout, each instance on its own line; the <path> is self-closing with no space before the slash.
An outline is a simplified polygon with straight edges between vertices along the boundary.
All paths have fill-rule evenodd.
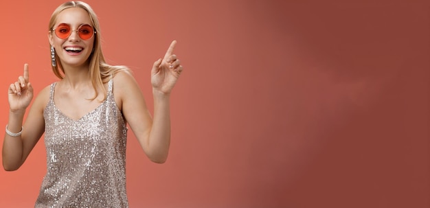
<path id="1" fill-rule="evenodd" d="M 181 61 L 173 54 L 174 46 L 177 41 L 172 41 L 170 47 L 166 51 L 163 59 L 159 59 L 154 62 L 151 71 L 151 83 L 152 89 L 168 94 L 172 91 L 174 84 L 181 76 L 183 67 Z"/>

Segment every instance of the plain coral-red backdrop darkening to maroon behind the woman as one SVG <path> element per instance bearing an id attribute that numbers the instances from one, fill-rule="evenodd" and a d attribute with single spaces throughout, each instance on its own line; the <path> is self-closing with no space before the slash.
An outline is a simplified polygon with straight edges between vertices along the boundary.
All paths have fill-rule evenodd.
<path id="1" fill-rule="evenodd" d="M 0 124 L 30 65 L 55 82 L 47 23 L 63 1 L 2 1 Z M 174 39 L 168 161 L 128 137 L 131 207 L 430 207 L 428 1 L 87 1 L 109 63 L 150 67 Z M 2 140 L 1 140 L 2 141 Z M 0 207 L 32 207 L 43 139 L 0 170 Z"/>

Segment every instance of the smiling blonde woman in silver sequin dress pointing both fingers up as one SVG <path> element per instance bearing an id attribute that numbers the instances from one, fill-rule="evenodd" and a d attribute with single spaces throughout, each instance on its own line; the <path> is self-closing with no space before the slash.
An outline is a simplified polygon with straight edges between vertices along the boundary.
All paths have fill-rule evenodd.
<path id="1" fill-rule="evenodd" d="M 45 133 L 47 173 L 35 207 L 128 207 L 126 125 L 151 161 L 163 163 L 170 144 L 170 92 L 183 67 L 173 41 L 151 71 L 153 118 L 124 66 L 105 62 L 100 27 L 82 1 L 60 5 L 49 21 L 52 69 L 60 79 L 34 100 L 28 65 L 10 84 L 3 167 L 17 170 Z"/>

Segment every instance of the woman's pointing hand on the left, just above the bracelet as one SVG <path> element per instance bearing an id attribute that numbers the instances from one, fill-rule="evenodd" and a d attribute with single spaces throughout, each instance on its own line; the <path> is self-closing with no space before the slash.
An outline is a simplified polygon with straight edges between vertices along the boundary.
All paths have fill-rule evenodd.
<path id="1" fill-rule="evenodd" d="M 10 111 L 25 111 L 33 99 L 33 86 L 29 82 L 28 64 L 24 65 L 24 74 L 8 89 Z"/>

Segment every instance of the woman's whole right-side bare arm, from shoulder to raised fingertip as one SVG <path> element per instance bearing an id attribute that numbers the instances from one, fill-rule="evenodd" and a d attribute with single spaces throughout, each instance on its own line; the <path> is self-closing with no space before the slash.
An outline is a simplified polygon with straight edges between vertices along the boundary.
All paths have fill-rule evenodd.
<path id="1" fill-rule="evenodd" d="M 172 54 L 176 41 L 163 59 L 152 66 L 151 83 L 154 96 L 154 117 L 150 116 L 142 91 L 130 73 L 119 73 L 115 84 L 121 86 L 122 112 L 148 158 L 164 163 L 170 147 L 170 92 L 180 76 L 182 66 Z M 114 87 L 115 89 L 115 87 Z"/>

